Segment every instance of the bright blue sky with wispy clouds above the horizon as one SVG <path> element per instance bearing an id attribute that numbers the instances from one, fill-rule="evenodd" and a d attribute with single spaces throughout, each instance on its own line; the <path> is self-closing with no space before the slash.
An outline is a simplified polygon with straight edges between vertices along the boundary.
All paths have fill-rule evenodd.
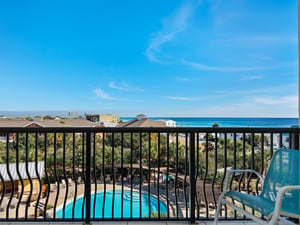
<path id="1" fill-rule="evenodd" d="M 297 7 L 2 1 L 1 111 L 297 117 Z"/>

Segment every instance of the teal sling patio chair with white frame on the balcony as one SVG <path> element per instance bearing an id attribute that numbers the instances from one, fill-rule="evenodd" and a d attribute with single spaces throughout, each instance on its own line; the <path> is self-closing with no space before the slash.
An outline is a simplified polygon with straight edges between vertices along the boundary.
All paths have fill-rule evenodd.
<path id="1" fill-rule="evenodd" d="M 253 170 L 231 170 L 226 174 L 225 188 L 219 197 L 214 225 L 218 222 L 221 205 L 225 204 L 259 224 L 278 224 L 279 220 L 289 222 L 285 217 L 300 219 L 300 151 L 278 149 L 267 170 L 265 179 Z M 229 190 L 228 184 L 234 172 L 255 173 L 262 181 L 259 195 Z M 243 206 L 259 212 L 255 216 Z M 249 209 L 248 208 L 248 209 Z M 257 214 L 256 214 L 257 215 Z"/>

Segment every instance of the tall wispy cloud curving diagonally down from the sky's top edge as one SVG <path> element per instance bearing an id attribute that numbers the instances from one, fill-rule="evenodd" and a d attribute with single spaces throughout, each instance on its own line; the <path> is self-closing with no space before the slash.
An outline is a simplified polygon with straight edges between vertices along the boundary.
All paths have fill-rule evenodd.
<path id="1" fill-rule="evenodd" d="M 146 49 L 146 56 L 150 61 L 166 63 L 161 48 L 187 28 L 188 20 L 197 6 L 197 2 L 186 3 L 180 6 L 173 15 L 164 19 L 162 29 L 154 34 Z"/>

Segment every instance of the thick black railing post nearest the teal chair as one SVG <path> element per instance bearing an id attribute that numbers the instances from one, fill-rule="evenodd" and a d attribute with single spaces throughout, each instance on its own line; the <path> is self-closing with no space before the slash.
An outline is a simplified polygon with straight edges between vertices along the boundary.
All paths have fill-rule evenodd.
<path id="1" fill-rule="evenodd" d="M 189 155 L 189 177 L 190 177 L 190 224 L 195 224 L 195 198 L 196 198 L 196 179 L 195 179 L 195 132 L 190 133 L 190 155 Z"/>

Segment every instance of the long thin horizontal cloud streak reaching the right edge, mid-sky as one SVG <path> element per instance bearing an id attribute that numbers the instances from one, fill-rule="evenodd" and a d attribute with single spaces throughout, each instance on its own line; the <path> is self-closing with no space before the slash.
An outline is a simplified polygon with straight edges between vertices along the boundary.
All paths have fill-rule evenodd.
<path id="1" fill-rule="evenodd" d="M 202 63 L 192 62 L 188 60 L 182 60 L 182 63 L 186 66 L 190 66 L 197 70 L 202 71 L 216 71 L 216 72 L 246 72 L 246 71 L 262 71 L 262 70 L 274 70 L 279 68 L 287 68 L 296 66 L 296 63 L 280 64 L 275 66 L 246 66 L 246 67 L 225 67 L 225 66 L 209 66 Z"/>

